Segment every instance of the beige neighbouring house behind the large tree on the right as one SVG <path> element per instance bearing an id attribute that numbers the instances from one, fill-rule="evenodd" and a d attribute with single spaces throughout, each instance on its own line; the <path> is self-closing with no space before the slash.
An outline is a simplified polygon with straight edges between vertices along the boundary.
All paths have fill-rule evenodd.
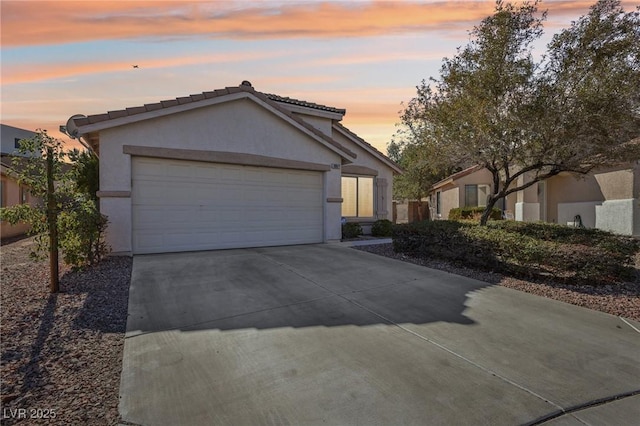
<path id="1" fill-rule="evenodd" d="M 517 182 L 522 185 L 527 175 Z M 484 206 L 491 173 L 474 166 L 436 183 L 431 204 L 437 218 L 454 207 Z M 640 235 L 640 163 L 594 170 L 585 176 L 560 173 L 509 195 L 497 207 L 519 221 L 544 221 Z"/>

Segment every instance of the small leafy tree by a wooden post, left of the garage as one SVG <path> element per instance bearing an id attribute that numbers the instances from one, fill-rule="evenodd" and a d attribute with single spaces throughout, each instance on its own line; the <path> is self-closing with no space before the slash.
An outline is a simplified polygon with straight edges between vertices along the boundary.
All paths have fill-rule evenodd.
<path id="1" fill-rule="evenodd" d="M 12 159 L 12 173 L 42 202 L 2 208 L 0 219 L 30 225 L 29 234 L 35 235 L 36 243 L 31 255 L 36 259 L 48 255 L 50 288 L 56 293 L 59 248 L 63 260 L 73 266 L 94 263 L 107 251 L 102 238 L 107 221 L 93 191 L 97 173 L 91 170 L 90 154 L 66 152 L 62 141 L 46 131 L 38 130 L 32 138 L 21 140 L 18 151 L 23 155 Z M 83 187 L 85 192 L 79 190 Z M 86 191 L 93 191 L 93 196 Z"/>

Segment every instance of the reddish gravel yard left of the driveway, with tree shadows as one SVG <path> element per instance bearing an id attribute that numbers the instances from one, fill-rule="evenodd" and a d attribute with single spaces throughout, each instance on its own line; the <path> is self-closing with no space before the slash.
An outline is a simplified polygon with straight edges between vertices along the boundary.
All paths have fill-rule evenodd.
<path id="1" fill-rule="evenodd" d="M 0 423 L 115 425 L 131 259 L 80 272 L 61 264 L 61 292 L 51 294 L 48 262 L 29 259 L 32 244 L 0 249 Z"/>

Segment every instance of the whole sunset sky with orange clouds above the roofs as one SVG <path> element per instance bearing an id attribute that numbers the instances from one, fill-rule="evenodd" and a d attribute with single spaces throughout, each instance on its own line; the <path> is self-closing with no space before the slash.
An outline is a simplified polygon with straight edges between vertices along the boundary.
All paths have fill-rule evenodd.
<path id="1" fill-rule="evenodd" d="M 546 35 L 595 0 L 546 0 Z M 640 2 L 624 2 L 630 11 Z M 252 82 L 346 108 L 343 124 L 386 152 L 402 102 L 494 1 L 1 1 L 3 124 L 58 127 Z M 132 65 L 138 65 L 134 69 Z"/>

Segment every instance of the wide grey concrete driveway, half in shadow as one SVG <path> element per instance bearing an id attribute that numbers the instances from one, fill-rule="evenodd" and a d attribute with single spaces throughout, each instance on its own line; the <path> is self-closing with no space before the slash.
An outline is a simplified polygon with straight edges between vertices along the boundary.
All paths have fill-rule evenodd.
<path id="1" fill-rule="evenodd" d="M 336 245 L 137 256 L 127 328 L 128 425 L 640 419 L 639 323 Z"/>

